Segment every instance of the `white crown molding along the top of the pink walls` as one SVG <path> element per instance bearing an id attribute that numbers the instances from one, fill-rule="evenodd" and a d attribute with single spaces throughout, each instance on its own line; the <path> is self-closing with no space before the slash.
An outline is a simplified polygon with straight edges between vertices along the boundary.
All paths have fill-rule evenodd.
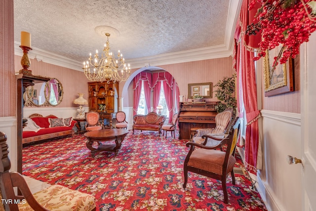
<path id="1" fill-rule="evenodd" d="M 235 26 L 238 20 L 242 0 L 230 0 L 229 2 L 224 44 L 142 58 L 126 59 L 125 62 L 130 63 L 131 67 L 135 69 L 142 68 L 148 64 L 151 64 L 152 66 L 160 66 L 232 56 L 234 50 Z M 23 52 L 19 45 L 20 42 L 14 42 L 14 54 L 23 56 Z M 69 59 L 36 47 L 32 47 L 32 50 L 29 51 L 28 55 L 30 59 L 37 59 L 38 61 L 45 63 L 83 72 L 82 63 L 80 61 Z"/>

